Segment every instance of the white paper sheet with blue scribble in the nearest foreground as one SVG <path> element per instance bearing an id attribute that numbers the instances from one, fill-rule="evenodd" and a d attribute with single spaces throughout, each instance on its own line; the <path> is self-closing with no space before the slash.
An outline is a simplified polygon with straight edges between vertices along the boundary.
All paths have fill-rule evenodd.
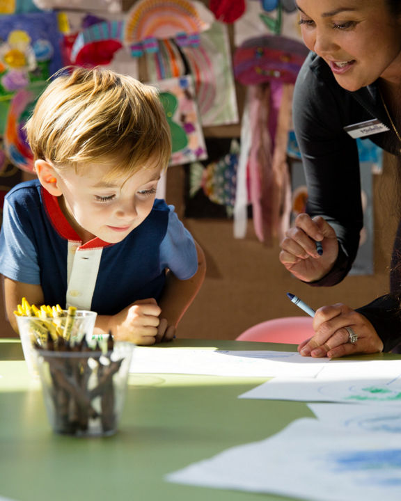
<path id="1" fill-rule="evenodd" d="M 170 482 L 302 498 L 399 501 L 401 434 L 353 429 L 306 418 L 272 438 L 194 463 Z"/>

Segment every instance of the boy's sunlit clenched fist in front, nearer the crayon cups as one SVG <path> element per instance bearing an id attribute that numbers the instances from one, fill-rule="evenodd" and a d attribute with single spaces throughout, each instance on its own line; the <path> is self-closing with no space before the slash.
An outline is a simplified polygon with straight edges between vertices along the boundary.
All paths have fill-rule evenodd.
<path id="1" fill-rule="evenodd" d="M 159 328 L 161 312 L 155 299 L 139 299 L 111 317 L 111 332 L 120 341 L 142 346 L 155 344 L 167 333 L 166 328 Z"/>

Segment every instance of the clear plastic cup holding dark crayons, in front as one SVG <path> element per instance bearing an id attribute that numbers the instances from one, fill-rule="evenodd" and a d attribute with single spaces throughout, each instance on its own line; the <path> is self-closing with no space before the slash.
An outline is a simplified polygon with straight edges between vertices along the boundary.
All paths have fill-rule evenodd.
<path id="1" fill-rule="evenodd" d="M 96 347 L 99 347 L 99 342 Z M 54 433 L 77 437 L 116 433 L 125 401 L 134 344 L 107 351 L 35 349 L 47 417 Z M 105 347 L 106 346 L 106 347 Z M 76 344 L 75 347 L 79 349 Z"/>

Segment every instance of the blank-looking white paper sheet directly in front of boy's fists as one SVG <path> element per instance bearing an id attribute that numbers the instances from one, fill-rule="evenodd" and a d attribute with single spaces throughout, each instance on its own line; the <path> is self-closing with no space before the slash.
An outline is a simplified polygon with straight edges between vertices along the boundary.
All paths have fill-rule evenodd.
<path id="1" fill-rule="evenodd" d="M 139 347 L 134 350 L 129 372 L 313 378 L 327 363 L 328 359 L 306 358 L 293 351 L 212 351 Z"/>

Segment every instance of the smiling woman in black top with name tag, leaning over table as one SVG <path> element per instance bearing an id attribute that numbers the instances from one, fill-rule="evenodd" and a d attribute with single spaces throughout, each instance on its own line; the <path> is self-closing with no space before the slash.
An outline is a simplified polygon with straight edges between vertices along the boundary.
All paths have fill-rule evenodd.
<path id="1" fill-rule="evenodd" d="M 297 0 L 310 54 L 294 92 L 294 128 L 308 183 L 308 214 L 281 243 L 280 260 L 311 285 L 347 275 L 363 225 L 355 137 L 401 154 L 395 120 L 401 84 L 401 0 Z M 400 124 L 401 125 L 401 124 Z M 400 245 L 395 240 L 393 260 Z M 323 253 L 317 253 L 321 241 Z M 300 345 L 306 356 L 388 351 L 401 340 L 398 276 L 391 294 L 354 311 L 317 310 L 316 335 Z M 349 342 L 350 327 L 358 340 Z"/>

